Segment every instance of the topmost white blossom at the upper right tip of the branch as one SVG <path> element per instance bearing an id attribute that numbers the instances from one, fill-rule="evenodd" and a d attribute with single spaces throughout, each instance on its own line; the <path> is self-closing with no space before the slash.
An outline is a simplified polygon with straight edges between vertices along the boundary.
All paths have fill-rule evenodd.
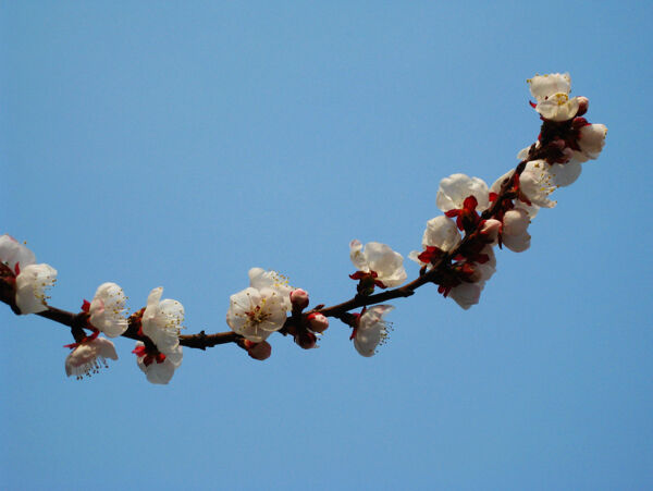
<path id="1" fill-rule="evenodd" d="M 568 73 L 535 75 L 527 81 L 535 98 L 535 111 L 551 121 L 568 121 L 578 113 L 579 98 L 569 99 L 571 78 Z"/>

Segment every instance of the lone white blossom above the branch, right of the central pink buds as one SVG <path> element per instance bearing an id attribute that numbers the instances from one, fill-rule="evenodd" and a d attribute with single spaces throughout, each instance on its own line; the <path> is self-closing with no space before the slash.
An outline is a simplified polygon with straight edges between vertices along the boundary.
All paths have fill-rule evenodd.
<path id="1" fill-rule="evenodd" d="M 364 247 L 360 241 L 349 243 L 349 258 L 358 271 L 375 273 L 374 280 L 381 287 L 398 286 L 408 277 L 404 269 L 404 258 L 385 244 L 368 242 Z"/>

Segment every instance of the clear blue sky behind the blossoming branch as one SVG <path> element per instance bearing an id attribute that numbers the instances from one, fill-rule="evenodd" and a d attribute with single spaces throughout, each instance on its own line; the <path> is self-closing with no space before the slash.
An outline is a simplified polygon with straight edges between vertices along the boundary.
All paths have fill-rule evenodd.
<path id="1" fill-rule="evenodd" d="M 264 363 L 186 349 L 168 386 L 120 339 L 75 382 L 66 329 L 0 308 L 0 488 L 653 487 L 652 25 L 645 1 L 2 2 L 0 233 L 71 310 L 161 285 L 224 331 L 254 266 L 348 298 L 350 240 L 407 255 L 442 177 L 516 163 L 535 73 L 609 132 L 480 305 L 422 289 L 371 359 L 334 321 Z"/>

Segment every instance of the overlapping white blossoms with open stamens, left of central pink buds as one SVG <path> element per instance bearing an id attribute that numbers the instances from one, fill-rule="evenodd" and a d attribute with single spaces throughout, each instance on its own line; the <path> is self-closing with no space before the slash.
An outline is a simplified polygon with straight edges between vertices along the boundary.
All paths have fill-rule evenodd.
<path id="1" fill-rule="evenodd" d="M 283 327 L 293 289 L 275 271 L 249 270 L 251 286 L 230 297 L 226 323 L 234 332 L 260 343 Z"/>

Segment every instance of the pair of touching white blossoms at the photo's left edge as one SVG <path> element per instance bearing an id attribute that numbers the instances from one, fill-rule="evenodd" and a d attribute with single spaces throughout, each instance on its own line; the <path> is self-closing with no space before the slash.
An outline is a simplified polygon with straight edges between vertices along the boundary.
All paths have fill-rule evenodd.
<path id="1" fill-rule="evenodd" d="M 7 234 L 0 236 L 0 261 L 16 274 L 16 306 L 21 314 L 47 310 L 46 290 L 57 281 L 57 270 L 50 265 L 36 265 L 34 253 Z"/>

